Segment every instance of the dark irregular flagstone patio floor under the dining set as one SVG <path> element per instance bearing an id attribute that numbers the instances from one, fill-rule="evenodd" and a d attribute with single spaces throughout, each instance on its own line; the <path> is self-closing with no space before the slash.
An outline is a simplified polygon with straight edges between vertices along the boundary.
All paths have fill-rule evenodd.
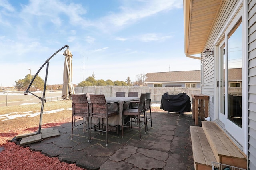
<path id="1" fill-rule="evenodd" d="M 124 129 L 123 138 L 110 132 L 106 147 L 106 135 L 97 132 L 88 143 L 88 132 L 74 129 L 71 140 L 71 123 L 65 123 L 53 127 L 60 136 L 25 146 L 87 170 L 194 170 L 190 125 L 192 115 L 152 112 L 152 127 L 148 124 L 146 134 L 142 130 L 141 141 L 138 129 Z"/>

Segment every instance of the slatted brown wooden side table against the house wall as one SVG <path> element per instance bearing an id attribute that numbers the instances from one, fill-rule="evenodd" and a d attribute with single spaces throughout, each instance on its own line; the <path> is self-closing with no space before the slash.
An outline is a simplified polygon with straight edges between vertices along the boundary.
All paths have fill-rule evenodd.
<path id="1" fill-rule="evenodd" d="M 203 94 L 191 94 L 192 97 L 192 118 L 195 125 L 198 125 L 198 117 L 209 116 L 209 96 Z"/>

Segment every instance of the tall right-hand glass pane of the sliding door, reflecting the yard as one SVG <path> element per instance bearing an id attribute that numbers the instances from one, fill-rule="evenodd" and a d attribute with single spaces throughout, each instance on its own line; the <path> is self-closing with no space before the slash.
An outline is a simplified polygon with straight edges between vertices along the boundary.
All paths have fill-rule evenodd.
<path id="1" fill-rule="evenodd" d="M 242 127 L 242 26 L 228 35 L 228 119 Z"/>

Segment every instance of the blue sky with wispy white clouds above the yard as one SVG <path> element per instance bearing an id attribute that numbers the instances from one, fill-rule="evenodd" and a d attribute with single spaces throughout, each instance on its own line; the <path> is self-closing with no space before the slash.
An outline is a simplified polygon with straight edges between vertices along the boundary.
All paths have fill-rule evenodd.
<path id="1" fill-rule="evenodd" d="M 183 0 L 1 0 L 0 85 L 35 75 L 65 45 L 74 84 L 200 70 L 184 54 L 183 22 Z M 50 59 L 47 85 L 63 83 L 65 49 Z"/>

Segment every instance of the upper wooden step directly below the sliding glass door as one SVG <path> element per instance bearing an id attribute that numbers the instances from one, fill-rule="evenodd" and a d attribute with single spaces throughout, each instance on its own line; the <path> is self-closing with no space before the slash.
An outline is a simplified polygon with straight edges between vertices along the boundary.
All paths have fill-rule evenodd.
<path id="1" fill-rule="evenodd" d="M 202 129 L 218 163 L 247 168 L 244 154 L 214 122 L 202 121 Z"/>

